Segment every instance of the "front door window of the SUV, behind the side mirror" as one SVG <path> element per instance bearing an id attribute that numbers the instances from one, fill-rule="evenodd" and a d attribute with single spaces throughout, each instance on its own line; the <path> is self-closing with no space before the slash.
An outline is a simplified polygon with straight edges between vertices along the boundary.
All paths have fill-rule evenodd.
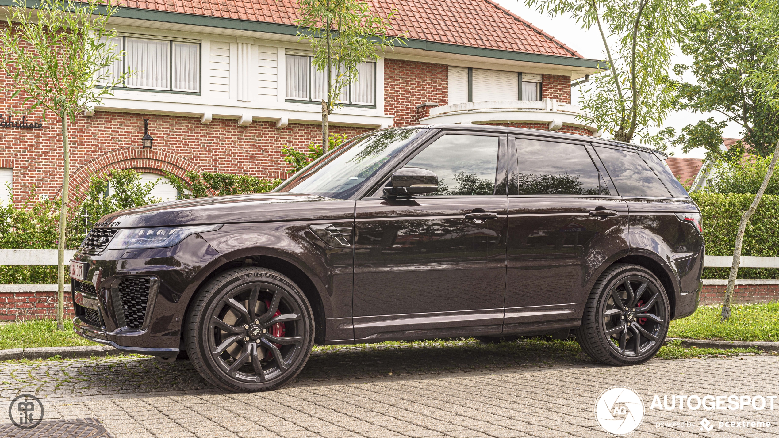
<path id="1" fill-rule="evenodd" d="M 439 177 L 431 194 L 493 194 L 499 137 L 444 135 L 425 147 L 404 167 L 421 167 Z"/>

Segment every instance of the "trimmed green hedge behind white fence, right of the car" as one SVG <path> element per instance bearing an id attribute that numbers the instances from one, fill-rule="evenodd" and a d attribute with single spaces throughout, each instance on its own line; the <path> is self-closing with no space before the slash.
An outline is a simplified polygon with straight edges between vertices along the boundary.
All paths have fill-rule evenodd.
<path id="1" fill-rule="evenodd" d="M 691 194 L 703 212 L 706 254 L 733 255 L 741 215 L 752 204 L 753 194 Z M 749 220 L 742 246 L 744 256 L 779 256 L 779 196 L 766 194 Z M 705 268 L 703 278 L 727 279 L 730 268 Z M 779 279 L 779 269 L 740 268 L 739 279 Z"/>

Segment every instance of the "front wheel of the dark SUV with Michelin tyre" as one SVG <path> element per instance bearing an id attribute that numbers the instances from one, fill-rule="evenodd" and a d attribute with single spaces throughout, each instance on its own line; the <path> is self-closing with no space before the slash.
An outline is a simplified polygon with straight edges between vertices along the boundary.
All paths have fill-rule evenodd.
<path id="1" fill-rule="evenodd" d="M 277 389 L 300 373 L 314 342 L 314 318 L 301 289 L 259 267 L 213 279 L 195 297 L 185 344 L 196 370 L 227 391 Z"/>

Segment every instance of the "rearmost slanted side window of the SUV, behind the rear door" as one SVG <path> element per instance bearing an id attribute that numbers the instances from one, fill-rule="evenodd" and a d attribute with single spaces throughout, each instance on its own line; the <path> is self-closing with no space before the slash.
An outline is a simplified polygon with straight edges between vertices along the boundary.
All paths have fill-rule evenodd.
<path id="1" fill-rule="evenodd" d="M 657 175 L 644 163 L 636 152 L 596 147 L 597 155 L 612 177 L 617 191 L 622 196 L 650 196 L 668 198 L 671 196 Z"/>

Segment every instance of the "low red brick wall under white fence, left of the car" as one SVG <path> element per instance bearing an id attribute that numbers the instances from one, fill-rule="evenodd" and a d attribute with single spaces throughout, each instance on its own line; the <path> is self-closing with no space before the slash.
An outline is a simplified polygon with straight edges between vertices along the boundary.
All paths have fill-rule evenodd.
<path id="1" fill-rule="evenodd" d="M 0 292 L 0 321 L 54 319 L 56 292 Z M 65 292 L 65 317 L 72 318 L 72 296 Z"/>

